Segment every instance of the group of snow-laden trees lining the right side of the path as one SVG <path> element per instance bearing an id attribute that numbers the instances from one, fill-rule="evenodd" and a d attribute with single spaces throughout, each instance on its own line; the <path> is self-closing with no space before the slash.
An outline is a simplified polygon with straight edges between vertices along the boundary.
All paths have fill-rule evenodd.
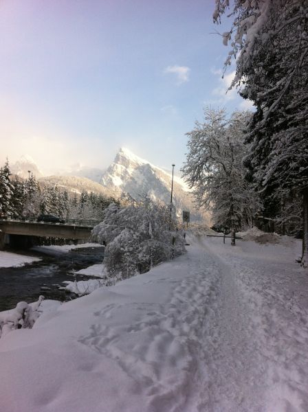
<path id="1" fill-rule="evenodd" d="M 221 225 L 241 227 L 254 214 L 282 233 L 303 229 L 308 262 L 308 3 L 302 0 L 216 0 L 213 19 L 235 59 L 232 87 L 254 113 L 206 109 L 188 133 L 184 176 L 197 203 L 212 207 Z"/>

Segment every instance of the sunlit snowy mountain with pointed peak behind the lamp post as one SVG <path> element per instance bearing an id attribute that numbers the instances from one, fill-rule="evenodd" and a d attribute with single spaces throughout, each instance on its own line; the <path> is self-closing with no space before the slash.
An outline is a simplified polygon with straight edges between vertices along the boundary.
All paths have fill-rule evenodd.
<path id="1" fill-rule="evenodd" d="M 121 148 L 102 175 L 100 183 L 118 195 L 126 192 L 136 200 L 148 196 L 153 201 L 162 201 L 168 205 L 171 181 L 172 174 L 137 157 L 130 150 Z M 183 210 L 189 210 L 192 219 L 209 220 L 209 216 L 195 209 L 191 192 L 178 176 L 174 176 L 173 180 L 173 203 L 178 216 L 181 216 Z"/>

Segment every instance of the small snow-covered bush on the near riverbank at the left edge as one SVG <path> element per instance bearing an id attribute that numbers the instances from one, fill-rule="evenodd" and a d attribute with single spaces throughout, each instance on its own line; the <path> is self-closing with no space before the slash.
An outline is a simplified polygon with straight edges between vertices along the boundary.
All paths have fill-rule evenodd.
<path id="1" fill-rule="evenodd" d="M 22 301 L 16 308 L 0 313 L 0 337 L 15 329 L 31 329 L 41 314 L 39 307 L 43 299 L 44 297 L 40 296 L 39 300 L 31 305 Z"/>

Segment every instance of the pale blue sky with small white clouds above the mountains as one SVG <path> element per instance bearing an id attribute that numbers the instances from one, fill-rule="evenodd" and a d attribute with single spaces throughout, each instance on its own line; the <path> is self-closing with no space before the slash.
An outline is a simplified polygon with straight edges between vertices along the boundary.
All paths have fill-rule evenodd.
<path id="1" fill-rule="evenodd" d="M 106 168 L 120 147 L 175 171 L 203 108 L 249 108 L 221 78 L 214 0 L 1 0 L 0 162 Z"/>

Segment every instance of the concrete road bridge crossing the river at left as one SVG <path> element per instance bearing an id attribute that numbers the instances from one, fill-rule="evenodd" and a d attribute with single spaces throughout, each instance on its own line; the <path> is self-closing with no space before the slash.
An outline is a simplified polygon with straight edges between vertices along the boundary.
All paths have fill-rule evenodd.
<path id="1" fill-rule="evenodd" d="M 65 238 L 87 242 L 91 230 L 99 222 L 90 220 L 67 220 L 65 224 L 21 220 L 0 220 L 0 249 L 5 244 L 18 243 L 30 246 L 32 237 Z"/>

